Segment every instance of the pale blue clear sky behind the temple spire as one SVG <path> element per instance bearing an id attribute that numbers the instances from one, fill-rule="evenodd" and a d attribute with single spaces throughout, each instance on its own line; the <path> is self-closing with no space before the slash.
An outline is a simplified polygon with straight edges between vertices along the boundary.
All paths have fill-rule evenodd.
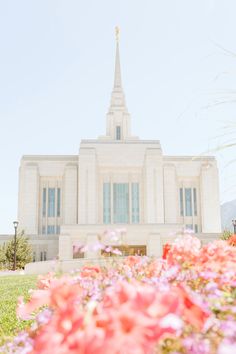
<path id="1" fill-rule="evenodd" d="M 235 0 L 0 0 L 0 234 L 22 155 L 76 155 L 104 134 L 116 25 L 134 135 L 166 155 L 235 142 L 235 14 Z M 236 147 L 210 154 L 221 203 L 236 199 Z"/>

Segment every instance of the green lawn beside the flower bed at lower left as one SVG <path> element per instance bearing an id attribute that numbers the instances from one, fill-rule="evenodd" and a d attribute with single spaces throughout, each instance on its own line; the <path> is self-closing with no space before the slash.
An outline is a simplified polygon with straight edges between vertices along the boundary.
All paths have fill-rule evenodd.
<path id="1" fill-rule="evenodd" d="M 0 345 L 19 330 L 29 326 L 29 321 L 16 318 L 19 296 L 29 298 L 28 291 L 36 286 L 37 276 L 16 275 L 0 277 Z"/>

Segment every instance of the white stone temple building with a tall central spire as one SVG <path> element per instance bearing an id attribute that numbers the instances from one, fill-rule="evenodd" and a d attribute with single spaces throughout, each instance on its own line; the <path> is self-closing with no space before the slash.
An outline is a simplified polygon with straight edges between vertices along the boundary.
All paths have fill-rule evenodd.
<path id="1" fill-rule="evenodd" d="M 158 140 L 132 135 L 118 38 L 106 122 L 105 135 L 82 140 L 78 155 L 22 157 L 18 220 L 34 260 L 99 257 L 100 250 L 77 254 L 73 247 L 96 243 L 105 230 L 123 230 L 118 247 L 125 254 L 161 255 L 183 228 L 204 242 L 218 237 L 215 158 L 166 156 Z"/>

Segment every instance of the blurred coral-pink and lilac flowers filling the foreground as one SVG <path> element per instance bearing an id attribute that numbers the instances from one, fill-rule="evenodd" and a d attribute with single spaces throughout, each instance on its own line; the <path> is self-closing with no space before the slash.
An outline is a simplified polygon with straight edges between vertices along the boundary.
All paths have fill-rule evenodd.
<path id="1" fill-rule="evenodd" d="M 185 234 L 164 251 L 40 277 L 17 309 L 34 324 L 2 352 L 235 353 L 236 248 Z"/>

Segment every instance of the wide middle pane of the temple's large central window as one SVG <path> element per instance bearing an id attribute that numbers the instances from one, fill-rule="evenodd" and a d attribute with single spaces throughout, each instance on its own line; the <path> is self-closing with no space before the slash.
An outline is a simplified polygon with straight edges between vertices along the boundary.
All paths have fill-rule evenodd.
<path id="1" fill-rule="evenodd" d="M 113 221 L 118 224 L 129 222 L 128 183 L 113 184 Z"/>

